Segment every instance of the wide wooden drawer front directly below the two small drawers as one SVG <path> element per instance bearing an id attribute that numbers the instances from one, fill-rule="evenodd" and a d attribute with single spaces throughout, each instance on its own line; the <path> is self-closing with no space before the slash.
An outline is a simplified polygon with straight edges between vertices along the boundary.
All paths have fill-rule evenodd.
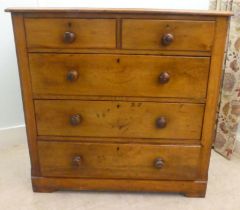
<path id="1" fill-rule="evenodd" d="M 209 62 L 201 57 L 29 54 L 35 95 L 205 98 Z"/>

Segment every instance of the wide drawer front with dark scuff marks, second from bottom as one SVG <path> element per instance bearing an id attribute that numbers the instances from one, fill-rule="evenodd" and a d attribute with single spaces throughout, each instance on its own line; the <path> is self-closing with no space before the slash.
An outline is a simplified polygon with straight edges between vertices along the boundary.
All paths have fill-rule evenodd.
<path id="1" fill-rule="evenodd" d="M 200 139 L 203 104 L 35 100 L 38 135 Z"/>

